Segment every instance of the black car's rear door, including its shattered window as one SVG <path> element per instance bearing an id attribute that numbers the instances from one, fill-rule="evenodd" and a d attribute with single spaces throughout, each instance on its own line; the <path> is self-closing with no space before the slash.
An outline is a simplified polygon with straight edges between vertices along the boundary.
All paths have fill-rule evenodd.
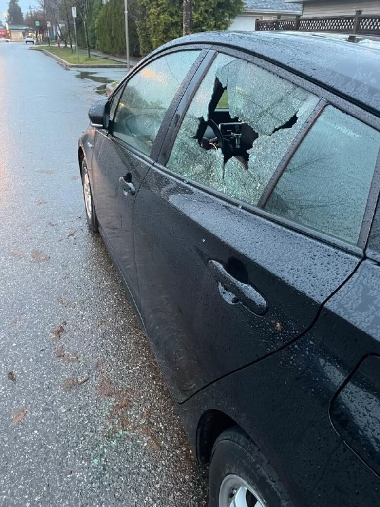
<path id="1" fill-rule="evenodd" d="M 363 257 L 375 131 L 240 58 L 218 54 L 180 103 L 134 209 L 142 318 L 179 402 L 305 333 Z M 194 138 L 220 86 L 258 133 L 246 163 Z"/>

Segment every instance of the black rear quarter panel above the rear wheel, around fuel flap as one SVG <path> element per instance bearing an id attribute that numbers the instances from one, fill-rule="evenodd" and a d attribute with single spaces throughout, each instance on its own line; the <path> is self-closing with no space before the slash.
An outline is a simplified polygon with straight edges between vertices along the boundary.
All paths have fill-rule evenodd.
<path id="1" fill-rule="evenodd" d="M 276 470 L 295 507 L 323 505 L 326 498 L 337 507 L 378 504 L 379 478 L 373 471 L 373 460 L 378 464 L 378 430 L 367 428 L 371 419 L 363 413 L 363 400 L 351 397 L 350 442 L 332 424 L 330 405 L 363 356 L 380 353 L 373 325 L 359 317 L 362 310 L 373 311 L 373 296 L 366 295 L 368 287 L 379 293 L 379 270 L 380 266 L 369 261 L 361 263 L 302 338 L 181 405 L 186 432 L 201 459 L 208 458 L 203 444 L 207 434 L 202 434 L 207 425 L 199 421 L 221 411 L 249 434 Z M 357 295 L 354 304 L 353 293 Z M 357 318 L 363 331 L 357 329 Z M 378 324 L 374 325 L 378 330 Z M 368 397 L 371 394 L 373 391 L 366 392 Z M 372 417 L 378 420 L 378 400 L 367 406 L 373 408 Z M 356 437 L 356 445 L 360 443 L 361 424 L 371 432 L 372 447 L 361 447 L 360 459 L 352 442 Z"/>

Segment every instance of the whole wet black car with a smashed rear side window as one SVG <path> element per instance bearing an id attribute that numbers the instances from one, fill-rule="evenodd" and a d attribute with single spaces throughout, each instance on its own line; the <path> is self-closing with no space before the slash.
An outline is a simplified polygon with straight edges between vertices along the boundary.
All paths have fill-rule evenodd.
<path id="1" fill-rule="evenodd" d="M 354 41 L 178 39 L 80 140 L 211 507 L 380 505 L 380 51 Z"/>

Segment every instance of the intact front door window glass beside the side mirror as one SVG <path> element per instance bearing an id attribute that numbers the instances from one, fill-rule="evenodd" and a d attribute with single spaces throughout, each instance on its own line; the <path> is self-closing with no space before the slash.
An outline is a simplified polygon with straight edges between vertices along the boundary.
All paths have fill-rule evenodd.
<path id="1" fill-rule="evenodd" d="M 165 113 L 199 53 L 170 53 L 135 74 L 121 96 L 113 135 L 149 155 Z"/>

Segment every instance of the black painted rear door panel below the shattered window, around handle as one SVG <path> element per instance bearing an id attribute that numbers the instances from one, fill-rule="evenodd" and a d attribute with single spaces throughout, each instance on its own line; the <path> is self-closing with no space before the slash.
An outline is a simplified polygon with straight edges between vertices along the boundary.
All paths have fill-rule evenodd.
<path id="1" fill-rule="evenodd" d="M 142 319 L 179 402 L 302 334 L 359 263 L 158 168 L 140 187 L 133 222 Z M 228 304 L 210 260 L 255 287 L 267 312 Z"/>

